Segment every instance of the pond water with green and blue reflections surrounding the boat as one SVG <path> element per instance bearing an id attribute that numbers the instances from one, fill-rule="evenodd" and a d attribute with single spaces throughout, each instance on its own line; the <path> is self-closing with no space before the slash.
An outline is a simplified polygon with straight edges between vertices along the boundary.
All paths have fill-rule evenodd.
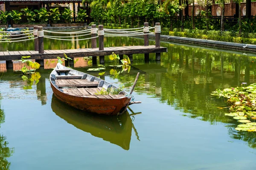
<path id="1" fill-rule="evenodd" d="M 143 39 L 105 39 L 105 46 L 119 45 L 143 45 Z M 237 120 L 217 108 L 226 103 L 210 94 L 255 83 L 256 55 L 169 42 L 161 46 L 168 48 L 161 62 L 154 54 L 148 63 L 143 54 L 134 55 L 131 68 L 118 76 L 110 74 L 108 57 L 100 72 L 87 71 L 90 60 L 75 59 L 76 70 L 125 83 L 127 91 L 141 73 L 133 94 L 142 104 L 117 117 L 91 115 L 58 101 L 49 83 L 52 69 L 37 70 L 41 78 L 32 84 L 0 67 L 0 169 L 255 170 L 256 133 L 236 131 Z M 85 47 L 90 41 L 45 41 L 45 49 Z M 0 44 L 1 51 L 32 49 L 29 41 Z M 45 68 L 55 64 L 45 61 Z"/>

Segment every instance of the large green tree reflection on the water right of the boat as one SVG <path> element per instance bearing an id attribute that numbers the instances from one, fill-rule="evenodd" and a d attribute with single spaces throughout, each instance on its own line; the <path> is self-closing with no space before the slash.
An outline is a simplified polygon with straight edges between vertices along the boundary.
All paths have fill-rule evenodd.
<path id="1" fill-rule="evenodd" d="M 183 116 L 211 124 L 228 123 L 229 134 L 233 139 L 241 139 L 256 148 L 256 133 L 236 131 L 236 120 L 224 115 L 228 110 L 217 108 L 225 107 L 226 103 L 210 96 L 216 88 L 256 82 L 256 57 L 183 46 L 170 46 L 168 51 L 169 54 L 163 54 L 161 62 L 162 67 L 167 68 L 166 72 L 161 68 L 157 71 L 154 65 L 151 68 L 155 72 L 145 71 L 148 64 L 144 68 L 140 66 L 146 73 L 140 75 L 135 91 L 147 93 L 162 103 L 172 105 L 183 111 Z M 119 81 L 131 82 L 134 77 L 120 75 Z"/>

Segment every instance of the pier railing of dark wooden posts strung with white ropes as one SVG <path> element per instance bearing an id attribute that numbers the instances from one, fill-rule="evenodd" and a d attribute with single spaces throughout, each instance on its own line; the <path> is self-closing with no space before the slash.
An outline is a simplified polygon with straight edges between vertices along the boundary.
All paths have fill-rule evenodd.
<path id="1" fill-rule="evenodd" d="M 152 31 L 154 30 L 154 31 Z M 140 28 L 126 28 L 126 29 L 106 29 L 103 25 L 92 25 L 90 29 L 71 32 L 56 32 L 44 30 L 42 26 L 34 26 L 33 30 L 29 31 L 0 31 L 0 43 L 1 42 L 22 42 L 28 40 L 34 40 L 35 51 L 39 54 L 44 54 L 44 39 L 61 40 L 61 41 L 76 41 L 91 40 L 92 48 L 96 47 L 97 39 L 99 41 L 99 51 L 104 51 L 104 37 L 128 37 L 128 36 L 144 36 L 144 46 L 149 45 L 148 35 L 155 34 L 155 47 L 160 48 L 160 23 L 156 23 L 154 27 L 148 26 L 148 23 L 144 23 Z M 22 34 L 20 34 L 22 33 Z M 55 35 L 51 35 L 55 34 Z M 84 38 L 85 36 L 89 36 Z M 131 62 L 133 60 L 132 54 L 128 55 Z M 123 58 L 123 55 L 120 55 Z M 145 54 L 145 60 L 148 60 L 149 54 Z M 100 63 L 104 63 L 104 56 L 99 56 Z M 156 53 L 156 60 L 160 61 L 160 53 Z M 96 56 L 93 56 L 93 63 L 96 62 Z"/>

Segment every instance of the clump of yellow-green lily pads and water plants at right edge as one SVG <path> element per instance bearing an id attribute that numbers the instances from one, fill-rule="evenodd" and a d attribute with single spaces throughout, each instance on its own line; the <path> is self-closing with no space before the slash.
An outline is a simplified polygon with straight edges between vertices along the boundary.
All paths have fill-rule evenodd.
<path id="1" fill-rule="evenodd" d="M 256 119 L 256 83 L 245 87 L 247 83 L 242 83 L 241 87 L 225 88 L 224 90 L 217 89 L 212 92 L 212 96 L 224 98 L 229 105 L 230 113 L 225 113 L 226 116 L 233 116 L 241 124 L 236 127 L 236 130 L 256 132 L 255 122 L 250 122 L 246 119 Z M 252 127 L 249 127 L 249 126 Z"/>

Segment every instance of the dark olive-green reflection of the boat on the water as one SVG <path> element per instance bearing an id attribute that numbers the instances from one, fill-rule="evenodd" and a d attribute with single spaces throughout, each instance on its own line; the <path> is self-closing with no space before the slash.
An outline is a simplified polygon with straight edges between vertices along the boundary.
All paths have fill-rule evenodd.
<path id="1" fill-rule="evenodd" d="M 51 106 L 56 115 L 76 128 L 129 150 L 133 124 L 128 111 L 120 116 L 85 114 L 84 111 L 65 105 L 54 95 L 52 95 Z"/>

